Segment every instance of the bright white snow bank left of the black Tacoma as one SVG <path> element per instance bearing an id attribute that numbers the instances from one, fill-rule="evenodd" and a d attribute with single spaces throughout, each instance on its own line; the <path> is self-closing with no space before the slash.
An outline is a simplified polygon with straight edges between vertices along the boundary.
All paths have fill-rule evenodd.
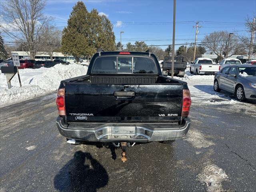
<path id="1" fill-rule="evenodd" d="M 11 80 L 11 89 L 8 89 L 4 74 L 0 73 L 0 107 L 56 91 L 61 80 L 84 75 L 87 67 L 57 64 L 51 68 L 21 69 L 19 72 L 22 87 L 16 74 Z"/>

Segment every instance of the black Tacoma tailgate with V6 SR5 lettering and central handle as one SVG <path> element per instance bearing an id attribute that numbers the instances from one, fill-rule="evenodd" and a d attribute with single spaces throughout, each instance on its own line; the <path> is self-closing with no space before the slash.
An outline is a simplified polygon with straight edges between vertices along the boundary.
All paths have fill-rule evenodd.
<path id="1" fill-rule="evenodd" d="M 65 85 L 67 122 L 178 122 L 182 84 Z"/>

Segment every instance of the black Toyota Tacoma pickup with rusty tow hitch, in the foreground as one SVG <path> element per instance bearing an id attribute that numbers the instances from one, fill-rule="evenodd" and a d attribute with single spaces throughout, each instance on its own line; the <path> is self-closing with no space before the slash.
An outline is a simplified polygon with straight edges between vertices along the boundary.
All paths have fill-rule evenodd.
<path id="1" fill-rule="evenodd" d="M 87 74 L 62 80 L 58 130 L 67 139 L 113 143 L 171 142 L 190 127 L 186 82 L 162 75 L 150 52 L 97 52 Z"/>

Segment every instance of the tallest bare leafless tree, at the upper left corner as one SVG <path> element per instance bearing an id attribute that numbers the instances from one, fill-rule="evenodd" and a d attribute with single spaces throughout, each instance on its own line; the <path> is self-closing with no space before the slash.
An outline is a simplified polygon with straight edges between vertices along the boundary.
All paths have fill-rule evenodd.
<path id="1" fill-rule="evenodd" d="M 43 28 L 52 19 L 42 12 L 45 4 L 46 0 L 8 0 L 2 7 L 4 24 L 0 28 L 16 42 L 27 46 L 31 59 L 35 59 L 44 38 Z"/>

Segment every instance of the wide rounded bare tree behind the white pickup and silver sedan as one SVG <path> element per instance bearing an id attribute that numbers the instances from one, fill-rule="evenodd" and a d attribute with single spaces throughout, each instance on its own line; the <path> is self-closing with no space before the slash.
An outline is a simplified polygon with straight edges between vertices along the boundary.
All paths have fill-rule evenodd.
<path id="1" fill-rule="evenodd" d="M 230 40 L 229 40 L 230 38 Z M 201 44 L 219 58 L 228 58 L 234 54 L 244 52 L 243 41 L 235 35 L 230 35 L 226 31 L 215 31 L 206 35 Z"/>

